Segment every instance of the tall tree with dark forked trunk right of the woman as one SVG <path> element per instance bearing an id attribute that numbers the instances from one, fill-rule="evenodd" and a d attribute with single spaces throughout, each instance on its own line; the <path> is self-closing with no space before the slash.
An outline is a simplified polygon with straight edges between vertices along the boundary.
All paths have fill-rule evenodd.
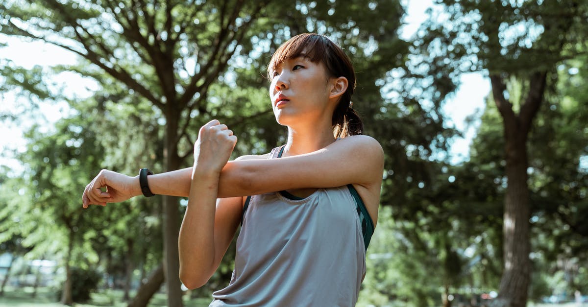
<path id="1" fill-rule="evenodd" d="M 578 54 L 586 31 L 579 1 L 439 1 L 440 18 L 422 35 L 423 54 L 453 59 L 446 69 L 487 71 L 505 139 L 503 306 L 525 306 L 530 281 L 530 198 L 527 185 L 529 132 L 544 104 L 548 76 L 564 58 Z M 450 75 L 449 72 L 446 73 Z M 513 92 L 510 84 L 520 82 Z"/>

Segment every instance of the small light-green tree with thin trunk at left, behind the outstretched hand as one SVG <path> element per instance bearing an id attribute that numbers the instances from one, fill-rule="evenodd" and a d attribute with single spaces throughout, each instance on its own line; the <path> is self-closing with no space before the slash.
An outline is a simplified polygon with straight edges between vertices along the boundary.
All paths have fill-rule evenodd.
<path id="1" fill-rule="evenodd" d="M 96 156 L 93 151 L 99 152 L 101 148 L 96 146 L 95 137 L 83 131 L 76 121 L 64 121 L 56 128 L 56 134 L 41 134 L 36 126 L 28 132 L 27 137 L 33 141 L 19 158 L 29 170 L 25 181 L 30 183 L 24 185 L 22 197 L 14 199 L 10 208 L 12 226 L 25 235 L 23 245 L 32 248 L 29 253 L 62 255 L 66 276 L 61 302 L 72 305 L 73 263 L 86 263 L 87 268 L 88 262 L 95 261 L 83 241 L 92 228 L 92 219 L 79 214 L 79 192 L 72 187 L 85 186 L 90 178 L 81 173 L 98 167 L 99 161 L 83 157 Z M 52 233 L 52 240 L 46 239 L 47 233 Z M 55 242 L 65 245 L 65 250 Z M 80 258 L 85 261 L 75 261 Z"/>

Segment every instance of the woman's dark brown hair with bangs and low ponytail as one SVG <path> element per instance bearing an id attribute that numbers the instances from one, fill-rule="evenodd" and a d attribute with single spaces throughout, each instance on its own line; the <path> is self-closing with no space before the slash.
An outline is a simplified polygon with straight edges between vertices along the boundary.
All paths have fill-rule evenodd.
<path id="1" fill-rule="evenodd" d="M 339 98 L 333 112 L 333 135 L 345 138 L 363 132 L 363 122 L 359 114 L 351 107 L 351 96 L 355 90 L 355 70 L 349 56 L 325 35 L 299 34 L 282 44 L 273 54 L 268 64 L 268 80 L 273 79 L 273 72 L 286 59 L 297 58 L 304 54 L 314 63 L 322 63 L 332 78 L 347 78 L 347 90 Z"/>

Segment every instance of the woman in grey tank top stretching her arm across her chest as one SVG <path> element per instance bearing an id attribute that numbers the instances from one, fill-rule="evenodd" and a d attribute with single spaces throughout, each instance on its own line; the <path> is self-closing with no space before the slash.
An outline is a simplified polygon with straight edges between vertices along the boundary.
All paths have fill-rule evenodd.
<path id="1" fill-rule="evenodd" d="M 288 127 L 285 145 L 228 161 L 236 137 L 211 121 L 199 131 L 193 167 L 149 176 L 146 193 L 189 196 L 179 233 L 188 288 L 208 281 L 242 223 L 235 271 L 211 306 L 353 306 L 377 221 L 383 152 L 359 135 L 352 63 L 325 36 L 301 34 L 278 48 L 268 78 L 276 121 Z M 102 171 L 86 186 L 84 208 L 141 195 L 141 176 Z"/>

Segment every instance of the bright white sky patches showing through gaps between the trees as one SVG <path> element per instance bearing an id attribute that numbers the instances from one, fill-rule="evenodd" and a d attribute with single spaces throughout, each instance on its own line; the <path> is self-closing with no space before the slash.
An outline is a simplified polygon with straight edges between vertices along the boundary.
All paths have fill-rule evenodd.
<path id="1" fill-rule="evenodd" d="M 425 21 L 425 10 L 432 6 L 432 0 L 414 0 L 403 1 L 407 14 L 404 17 L 405 25 L 400 30 L 400 37 L 409 39 L 414 35 L 419 25 Z M 0 48 L 0 61 L 9 59 L 15 65 L 24 68 L 32 68 L 35 65 L 44 67 L 55 66 L 59 64 L 76 64 L 78 58 L 72 52 L 64 51 L 61 48 L 44 44 L 39 41 L 22 41 L 18 38 L 12 38 L 0 34 L 0 44 L 7 44 L 6 47 Z M 92 90 L 97 89 L 95 81 L 84 79 L 79 75 L 64 73 L 59 75 L 59 82 L 68 95 L 79 97 L 92 95 Z M 0 79 L 1 81 L 1 79 Z M 453 163 L 464 161 L 469 156 L 469 145 L 475 136 L 477 125 L 466 125 L 467 116 L 479 113 L 485 106 L 485 99 L 490 92 L 490 82 L 480 73 L 465 74 L 461 77 L 461 85 L 447 99 L 443 111 L 448 116 L 447 124 L 455 125 L 462 131 L 464 138 L 456 138 L 450 150 Z M 18 109 L 19 104 L 23 104 L 24 97 L 17 97 L 15 92 L 0 93 L 0 113 L 14 111 Z M 68 116 L 69 108 L 65 102 L 53 102 L 40 104 L 39 116 L 35 121 L 42 122 L 44 129 L 49 131 L 52 123 L 58 121 L 64 116 Z M 22 165 L 14 159 L 5 148 L 17 149 L 24 151 L 25 139 L 23 131 L 26 131 L 32 124 L 31 121 L 20 121 L 10 123 L 0 121 L 0 165 L 7 165 L 18 173 L 22 170 Z"/>

